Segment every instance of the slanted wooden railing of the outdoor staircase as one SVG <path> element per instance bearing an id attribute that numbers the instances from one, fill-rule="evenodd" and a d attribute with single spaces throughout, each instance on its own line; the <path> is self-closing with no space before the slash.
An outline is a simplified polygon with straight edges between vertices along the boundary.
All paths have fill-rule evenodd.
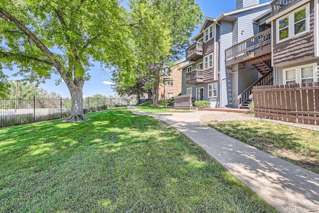
<path id="1" fill-rule="evenodd" d="M 263 77 L 259 78 L 258 81 L 253 83 L 250 87 L 248 87 L 245 91 L 243 91 L 240 95 L 237 96 L 238 108 L 242 106 L 242 104 L 248 99 L 253 99 L 253 87 L 262 86 L 268 84 L 273 80 L 273 71 L 269 71 Z"/>

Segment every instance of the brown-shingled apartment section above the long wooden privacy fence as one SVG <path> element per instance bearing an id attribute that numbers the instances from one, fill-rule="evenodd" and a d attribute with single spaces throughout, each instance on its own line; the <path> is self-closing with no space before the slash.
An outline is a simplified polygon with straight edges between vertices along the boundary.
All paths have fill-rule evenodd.
<path id="1" fill-rule="evenodd" d="M 274 84 L 318 82 L 318 0 L 273 0 L 271 8 Z"/>

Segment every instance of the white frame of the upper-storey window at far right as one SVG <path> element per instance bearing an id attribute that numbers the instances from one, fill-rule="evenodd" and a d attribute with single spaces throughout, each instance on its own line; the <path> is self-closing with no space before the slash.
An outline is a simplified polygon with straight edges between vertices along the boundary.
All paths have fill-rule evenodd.
<path id="1" fill-rule="evenodd" d="M 306 8 L 306 30 L 300 33 L 295 34 L 295 13 Z M 279 21 L 288 17 L 288 37 L 280 40 L 280 29 L 279 29 Z M 289 40 L 293 37 L 297 37 L 299 35 L 305 34 L 310 31 L 310 3 L 305 4 L 302 7 L 299 7 L 289 14 L 283 15 L 276 20 L 276 38 L 277 43 Z"/>

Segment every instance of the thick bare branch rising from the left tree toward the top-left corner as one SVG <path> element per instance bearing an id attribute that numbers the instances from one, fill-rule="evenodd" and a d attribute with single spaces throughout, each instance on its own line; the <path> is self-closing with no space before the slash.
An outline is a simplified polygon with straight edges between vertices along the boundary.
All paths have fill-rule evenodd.
<path id="1" fill-rule="evenodd" d="M 42 43 L 42 41 L 31 32 L 24 24 L 22 24 L 15 17 L 10 15 L 7 11 L 0 7 L 0 17 L 6 21 L 15 23 L 34 43 L 35 45 L 43 52 L 43 54 L 52 61 L 53 66 L 55 66 L 58 72 L 63 73 L 60 63 L 54 59 L 53 53 Z"/>

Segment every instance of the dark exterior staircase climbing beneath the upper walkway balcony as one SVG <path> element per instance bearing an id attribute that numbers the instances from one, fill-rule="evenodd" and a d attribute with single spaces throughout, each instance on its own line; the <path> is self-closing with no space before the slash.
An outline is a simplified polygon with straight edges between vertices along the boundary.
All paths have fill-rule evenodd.
<path id="1" fill-rule="evenodd" d="M 239 109 L 249 109 L 249 104 L 253 101 L 253 87 L 254 86 L 265 86 L 273 85 L 273 69 L 271 68 L 271 61 L 266 60 L 253 64 L 253 66 L 263 75 L 256 82 L 250 85 L 244 92 L 238 95 L 238 108 Z"/>

